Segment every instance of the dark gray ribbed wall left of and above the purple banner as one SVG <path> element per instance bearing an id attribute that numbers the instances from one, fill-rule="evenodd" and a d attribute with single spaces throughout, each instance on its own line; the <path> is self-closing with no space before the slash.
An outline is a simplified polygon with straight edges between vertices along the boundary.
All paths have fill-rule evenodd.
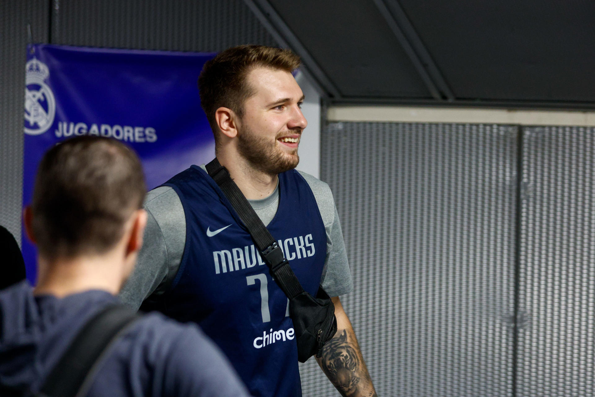
<path id="1" fill-rule="evenodd" d="M 18 241 L 27 22 L 33 40 L 45 43 L 209 52 L 277 45 L 242 0 L 7 0 L 0 7 L 0 224 Z"/>

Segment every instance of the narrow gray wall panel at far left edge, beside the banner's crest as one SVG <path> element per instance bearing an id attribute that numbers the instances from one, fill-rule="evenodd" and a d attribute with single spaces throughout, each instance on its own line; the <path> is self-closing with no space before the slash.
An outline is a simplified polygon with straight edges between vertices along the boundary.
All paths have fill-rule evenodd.
<path id="1" fill-rule="evenodd" d="M 48 2 L 1 1 L 0 21 L 0 224 L 20 242 L 27 23 L 47 40 Z"/>

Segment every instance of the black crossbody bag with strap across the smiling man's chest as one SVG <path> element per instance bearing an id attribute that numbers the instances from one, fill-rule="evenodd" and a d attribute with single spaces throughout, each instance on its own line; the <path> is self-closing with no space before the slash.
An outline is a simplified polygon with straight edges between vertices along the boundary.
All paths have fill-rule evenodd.
<path id="1" fill-rule="evenodd" d="M 217 158 L 206 164 L 206 170 L 231 202 L 269 267 L 271 276 L 289 298 L 289 315 L 296 333 L 297 360 L 306 362 L 314 354 L 321 357 L 322 346 L 337 332 L 333 301 L 322 286 L 318 287 L 316 298 L 303 290 L 283 251 Z"/>

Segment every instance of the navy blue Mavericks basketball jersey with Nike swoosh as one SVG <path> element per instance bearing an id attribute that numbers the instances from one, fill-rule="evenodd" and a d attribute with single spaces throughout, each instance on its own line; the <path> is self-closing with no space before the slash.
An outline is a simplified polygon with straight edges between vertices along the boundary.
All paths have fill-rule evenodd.
<path id="1" fill-rule="evenodd" d="M 230 202 L 196 165 L 164 185 L 180 196 L 186 245 L 170 290 L 154 307 L 176 320 L 198 323 L 253 396 L 301 396 L 288 299 Z M 279 174 L 279 195 L 277 214 L 267 229 L 303 288 L 315 295 L 327 251 L 318 205 L 295 170 Z"/>

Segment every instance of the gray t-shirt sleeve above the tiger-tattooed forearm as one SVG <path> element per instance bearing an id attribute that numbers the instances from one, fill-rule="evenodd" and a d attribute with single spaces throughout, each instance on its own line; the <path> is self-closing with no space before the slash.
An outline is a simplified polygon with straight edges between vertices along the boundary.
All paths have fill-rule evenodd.
<path id="1" fill-rule="evenodd" d="M 312 193 L 314 193 L 324 229 L 327 232 L 327 258 L 324 270 L 322 270 L 322 287 L 329 296 L 344 295 L 353 290 L 353 283 L 333 193 L 331 188 L 321 180 L 302 171 L 299 173 L 308 182 Z"/>

